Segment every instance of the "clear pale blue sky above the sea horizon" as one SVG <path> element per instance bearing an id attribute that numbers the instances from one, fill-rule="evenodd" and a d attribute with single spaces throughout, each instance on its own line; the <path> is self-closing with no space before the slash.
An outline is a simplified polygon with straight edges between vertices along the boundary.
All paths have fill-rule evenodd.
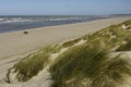
<path id="1" fill-rule="evenodd" d="M 131 14 L 131 0 L 0 0 L 0 15 Z"/>

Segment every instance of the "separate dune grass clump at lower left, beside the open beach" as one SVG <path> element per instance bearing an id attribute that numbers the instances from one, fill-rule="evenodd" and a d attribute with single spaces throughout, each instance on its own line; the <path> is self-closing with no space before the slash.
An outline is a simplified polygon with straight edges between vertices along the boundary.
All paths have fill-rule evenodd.
<path id="1" fill-rule="evenodd" d="M 33 76 L 37 75 L 46 65 L 50 63 L 50 53 L 59 52 L 61 47 L 48 46 L 35 53 L 32 53 L 21 60 L 19 63 L 14 64 L 12 69 L 9 70 L 7 77 L 10 82 L 11 70 L 14 69 L 13 73 L 17 73 L 16 78 L 20 82 L 26 82 Z"/>

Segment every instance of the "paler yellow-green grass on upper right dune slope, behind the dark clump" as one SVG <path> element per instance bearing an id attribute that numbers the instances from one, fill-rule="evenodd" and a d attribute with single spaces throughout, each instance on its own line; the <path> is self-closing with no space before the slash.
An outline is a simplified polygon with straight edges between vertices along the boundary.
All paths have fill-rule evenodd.
<path id="1" fill-rule="evenodd" d="M 130 24 L 131 25 L 131 24 Z M 130 26 L 128 24 L 128 26 Z M 88 36 L 88 41 L 99 38 L 108 49 L 122 46 L 122 41 L 131 39 L 131 30 L 122 29 L 122 24 L 111 25 Z M 114 37 L 114 38 L 111 38 Z"/>

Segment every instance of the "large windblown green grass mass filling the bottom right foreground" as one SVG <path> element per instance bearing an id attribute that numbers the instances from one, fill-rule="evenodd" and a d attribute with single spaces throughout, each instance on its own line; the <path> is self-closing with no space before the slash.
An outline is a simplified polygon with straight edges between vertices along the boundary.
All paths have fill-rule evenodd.
<path id="1" fill-rule="evenodd" d="M 55 80 L 52 87 L 70 87 L 72 84 L 82 87 L 82 82 L 75 82 L 85 78 L 92 82 L 90 87 L 115 87 L 116 83 L 123 82 L 124 75 L 131 75 L 128 60 L 120 57 L 110 60 L 108 51 L 97 44 L 74 47 L 59 55 L 50 67 Z M 67 84 L 68 80 L 71 82 Z"/>

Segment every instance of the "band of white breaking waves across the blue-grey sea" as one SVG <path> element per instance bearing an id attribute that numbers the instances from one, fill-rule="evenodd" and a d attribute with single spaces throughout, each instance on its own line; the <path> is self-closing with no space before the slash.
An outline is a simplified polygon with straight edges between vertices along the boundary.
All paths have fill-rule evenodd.
<path id="1" fill-rule="evenodd" d="M 0 24 L 47 22 L 47 21 L 73 21 L 85 18 L 86 17 L 2 17 L 2 18 L 0 17 Z"/>

